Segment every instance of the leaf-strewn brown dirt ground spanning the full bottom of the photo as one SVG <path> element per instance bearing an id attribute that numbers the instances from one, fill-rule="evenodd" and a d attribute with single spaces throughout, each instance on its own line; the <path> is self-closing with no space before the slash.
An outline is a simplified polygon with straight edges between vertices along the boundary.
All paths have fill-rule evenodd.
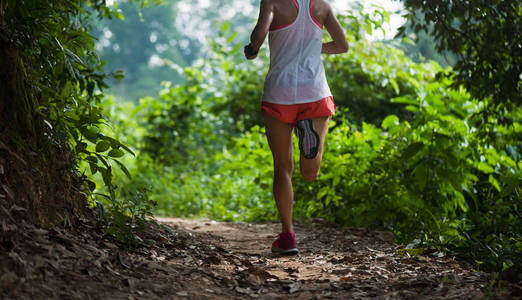
<path id="1" fill-rule="evenodd" d="M 475 299 L 488 274 L 438 253 L 398 253 L 390 232 L 297 224 L 298 256 L 276 256 L 277 224 L 158 218 L 123 250 L 103 224 L 0 222 L 0 299 Z M 494 298 L 516 298 L 506 285 Z"/>

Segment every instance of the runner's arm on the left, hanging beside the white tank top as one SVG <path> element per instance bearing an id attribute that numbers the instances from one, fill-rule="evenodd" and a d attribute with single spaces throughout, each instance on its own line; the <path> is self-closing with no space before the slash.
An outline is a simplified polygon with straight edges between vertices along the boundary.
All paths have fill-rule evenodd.
<path id="1" fill-rule="evenodd" d="M 250 45 L 245 47 L 245 57 L 247 59 L 254 59 L 257 57 L 257 52 L 265 41 L 273 19 L 274 5 L 272 0 L 261 0 L 259 18 L 257 19 L 256 27 L 254 27 L 252 35 L 250 36 Z"/>

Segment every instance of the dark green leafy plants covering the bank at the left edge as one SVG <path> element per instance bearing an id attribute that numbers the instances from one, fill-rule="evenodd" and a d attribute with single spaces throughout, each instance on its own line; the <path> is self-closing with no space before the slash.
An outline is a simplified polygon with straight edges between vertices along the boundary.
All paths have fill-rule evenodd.
<path id="1" fill-rule="evenodd" d="M 135 2 L 144 5 L 147 1 Z M 0 4 L 0 23 L 8 23 L 7 27 L 2 25 L 0 50 L 10 53 L 14 67 L 9 71 L 16 76 L 13 82 L 19 85 L 9 101 L 12 114 L 7 120 L 11 122 L 2 122 L 1 126 L 10 128 L 15 137 L 29 136 L 19 143 L 29 149 L 34 147 L 31 151 L 38 151 L 41 158 L 55 161 L 59 158 L 53 156 L 65 153 L 66 160 L 72 161 L 72 165 L 66 162 L 64 167 L 67 174 L 88 169 L 91 176 L 99 176 L 103 194 L 102 187 L 98 189 L 86 176 L 82 176 L 82 184 L 92 204 L 99 203 L 100 213 L 108 218 L 108 232 L 127 239 L 150 214 L 151 206 L 141 190 L 132 193 L 134 198 L 128 196 L 133 200 L 116 198 L 113 170 L 117 166 L 130 177 L 119 159 L 125 153 L 134 153 L 103 132 L 106 121 L 100 107 L 101 91 L 108 87 L 109 77 L 121 79 L 121 74 L 103 72 L 88 27 L 94 14 L 112 18 L 118 12 L 107 7 L 104 0 Z M 101 203 L 108 204 L 108 209 Z"/>

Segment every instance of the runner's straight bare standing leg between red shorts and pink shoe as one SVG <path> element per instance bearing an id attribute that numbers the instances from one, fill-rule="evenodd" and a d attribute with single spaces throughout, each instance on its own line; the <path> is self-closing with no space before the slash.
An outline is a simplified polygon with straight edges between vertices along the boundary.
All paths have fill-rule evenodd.
<path id="1" fill-rule="evenodd" d="M 292 153 L 293 126 L 279 121 L 263 112 L 265 131 L 272 157 L 274 158 L 274 198 L 279 211 L 282 232 L 293 232 L 292 209 L 294 191 L 292 189 L 292 172 L 294 159 Z"/>

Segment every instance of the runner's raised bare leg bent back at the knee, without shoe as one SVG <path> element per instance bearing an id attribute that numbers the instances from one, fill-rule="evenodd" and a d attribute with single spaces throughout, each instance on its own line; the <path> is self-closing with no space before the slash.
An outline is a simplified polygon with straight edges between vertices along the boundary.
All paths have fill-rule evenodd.
<path id="1" fill-rule="evenodd" d="M 299 158 L 301 174 L 306 181 L 312 182 L 317 179 L 317 176 L 319 175 L 319 168 L 321 167 L 321 160 L 323 159 L 324 138 L 328 132 L 329 120 L 330 117 L 312 119 L 314 122 L 314 129 L 319 134 L 319 150 L 317 156 L 313 159 L 306 159 L 303 155 Z"/>

